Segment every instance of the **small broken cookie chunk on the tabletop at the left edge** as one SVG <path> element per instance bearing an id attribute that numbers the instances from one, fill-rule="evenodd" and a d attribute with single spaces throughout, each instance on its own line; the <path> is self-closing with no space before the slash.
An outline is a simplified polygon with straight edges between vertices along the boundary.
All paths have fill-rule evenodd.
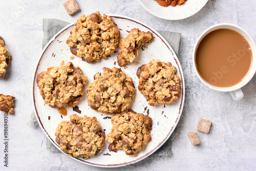
<path id="1" fill-rule="evenodd" d="M 0 94 L 0 111 L 5 112 L 6 114 L 13 114 L 14 99 L 15 97 L 13 96 Z"/>

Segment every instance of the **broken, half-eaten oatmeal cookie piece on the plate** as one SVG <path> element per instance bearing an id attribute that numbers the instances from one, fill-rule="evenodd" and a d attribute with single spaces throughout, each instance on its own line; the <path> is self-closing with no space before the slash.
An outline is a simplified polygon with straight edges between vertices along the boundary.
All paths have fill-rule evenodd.
<path id="1" fill-rule="evenodd" d="M 117 56 L 118 65 L 124 66 L 133 62 L 136 56 L 139 55 L 139 48 L 145 46 L 146 43 L 152 42 L 154 39 L 151 32 L 143 32 L 139 29 L 132 29 L 125 38 L 120 41 L 120 53 Z"/>

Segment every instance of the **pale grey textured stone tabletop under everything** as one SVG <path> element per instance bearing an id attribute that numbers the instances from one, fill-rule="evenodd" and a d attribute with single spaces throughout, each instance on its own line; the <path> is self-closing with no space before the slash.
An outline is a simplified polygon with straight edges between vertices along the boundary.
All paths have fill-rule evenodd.
<path id="1" fill-rule="evenodd" d="M 150 0 L 148 0 L 150 1 Z M 153 0 L 151 0 L 153 1 Z M 196 1 L 196 0 L 189 0 Z M 204 86 L 192 65 L 192 52 L 198 36 L 218 23 L 244 28 L 256 40 L 256 1 L 209 0 L 197 14 L 183 20 L 164 20 L 148 13 L 138 1 L 77 0 L 81 12 L 69 16 L 65 1 L 1 1 L 0 35 L 13 56 L 0 93 L 14 95 L 15 115 L 9 115 L 9 170 L 255 170 L 256 169 L 256 76 L 242 88 L 245 97 L 234 101 L 229 93 Z M 74 161 L 46 149 L 46 136 L 40 127 L 27 123 L 33 111 L 32 79 L 42 44 L 42 18 L 74 22 L 82 14 L 100 11 L 136 18 L 155 30 L 182 33 L 179 59 L 183 68 L 186 97 L 180 122 L 170 137 L 170 157 L 150 156 L 121 168 L 98 168 Z M 187 133 L 195 131 L 199 118 L 212 121 L 209 134 L 198 132 L 200 145 L 191 145 Z M 3 130 L 3 114 L 0 130 Z M 2 135 L 2 133 L 1 133 Z M 3 138 L 0 138 L 0 158 Z M 3 160 L 3 159 L 2 159 Z M 6 170 L 0 160 L 0 170 Z"/>

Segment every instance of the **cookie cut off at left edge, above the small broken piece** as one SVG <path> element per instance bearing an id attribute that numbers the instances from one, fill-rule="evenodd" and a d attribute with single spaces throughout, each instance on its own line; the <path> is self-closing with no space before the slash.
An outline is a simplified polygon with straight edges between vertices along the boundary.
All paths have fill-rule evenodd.
<path id="1" fill-rule="evenodd" d="M 0 79 L 5 76 L 6 68 L 10 65 L 12 55 L 7 52 L 4 39 L 0 36 Z"/>

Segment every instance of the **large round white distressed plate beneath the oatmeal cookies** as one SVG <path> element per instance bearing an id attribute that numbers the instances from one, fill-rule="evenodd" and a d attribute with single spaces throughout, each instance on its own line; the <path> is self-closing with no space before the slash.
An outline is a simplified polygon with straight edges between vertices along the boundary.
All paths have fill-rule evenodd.
<path id="1" fill-rule="evenodd" d="M 154 41 L 145 47 L 143 51 L 140 51 L 139 56 L 136 57 L 133 63 L 127 65 L 126 67 L 121 67 L 122 71 L 124 71 L 127 76 L 133 78 L 136 89 L 138 86 L 138 77 L 136 76 L 137 69 L 141 65 L 150 62 L 152 59 L 160 59 L 164 62 L 172 62 L 173 66 L 177 68 L 177 74 L 181 78 L 181 96 L 176 102 L 172 104 L 159 104 L 153 107 L 148 105 L 148 102 L 144 96 L 137 89 L 135 101 L 131 104 L 130 109 L 145 115 L 148 113 L 148 115 L 152 118 L 152 141 L 143 149 L 143 151 L 140 151 L 138 156 L 126 156 L 125 153 L 121 150 L 117 151 L 116 153 L 110 152 L 108 150 L 109 143 L 106 142 L 106 145 L 104 146 L 103 151 L 99 154 L 99 156 L 94 156 L 88 160 L 83 160 L 81 157 L 72 157 L 73 159 L 80 162 L 99 167 L 119 167 L 129 165 L 153 154 L 173 133 L 176 125 L 179 122 L 185 97 L 184 77 L 181 65 L 176 54 L 174 53 L 174 50 L 168 45 L 167 41 L 157 31 L 140 23 L 138 20 L 120 15 L 110 16 L 117 24 L 121 37 L 126 37 L 128 32 L 133 28 L 139 28 L 145 32 L 151 31 L 155 36 Z M 74 112 L 72 108 L 68 108 L 67 116 L 60 115 L 57 111 L 57 108 L 53 109 L 50 108 L 49 105 L 44 104 L 44 100 L 40 96 L 39 89 L 36 84 L 37 74 L 42 71 L 46 71 L 49 67 L 60 66 L 61 60 L 64 60 L 65 62 L 72 61 L 74 66 L 79 66 L 83 73 L 88 76 L 88 82 L 92 82 L 94 74 L 97 72 L 102 72 L 103 67 L 119 68 L 117 65 L 118 52 L 115 52 L 109 58 L 101 59 L 96 63 L 87 63 L 82 61 L 80 57 L 76 56 L 73 60 L 71 60 L 70 56 L 72 54 L 69 50 L 70 48 L 66 44 L 66 40 L 70 36 L 70 31 L 73 28 L 74 24 L 68 25 L 59 31 L 48 42 L 40 54 L 37 66 L 35 68 L 35 75 L 33 80 L 33 101 L 36 118 L 39 125 L 41 126 L 42 131 L 45 132 L 46 136 L 57 148 L 59 147 L 55 142 L 55 129 L 58 123 L 62 120 L 70 120 L 69 117 L 72 114 L 77 114 L 78 116 L 87 115 L 89 117 L 97 117 L 97 120 L 102 126 L 102 129 L 105 130 L 105 134 L 109 134 L 112 127 L 110 119 L 111 115 L 101 114 L 100 112 L 92 110 L 88 106 L 86 95 L 84 95 L 78 104 L 81 114 Z M 117 49 L 117 51 L 119 51 L 119 49 Z M 87 89 L 88 88 L 86 86 L 86 90 Z"/>

